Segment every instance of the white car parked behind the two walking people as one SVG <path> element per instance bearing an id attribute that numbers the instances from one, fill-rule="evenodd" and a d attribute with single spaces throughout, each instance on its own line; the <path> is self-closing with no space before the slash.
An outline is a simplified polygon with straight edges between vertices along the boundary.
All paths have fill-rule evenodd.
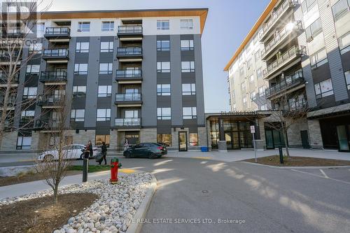
<path id="1" fill-rule="evenodd" d="M 84 145 L 81 144 L 71 144 L 63 147 L 66 158 L 69 160 L 82 160 L 84 157 L 83 150 L 85 149 Z M 96 156 L 98 151 L 96 147 L 93 147 L 94 151 L 92 156 Z M 38 155 L 38 160 L 58 160 L 58 151 L 57 150 L 46 150 L 43 153 Z"/>

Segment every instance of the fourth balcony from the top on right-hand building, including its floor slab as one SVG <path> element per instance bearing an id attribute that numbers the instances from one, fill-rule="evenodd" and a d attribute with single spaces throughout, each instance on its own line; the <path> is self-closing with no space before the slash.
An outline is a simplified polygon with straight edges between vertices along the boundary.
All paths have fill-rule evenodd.
<path id="1" fill-rule="evenodd" d="M 302 72 L 299 71 L 293 74 L 293 76 L 286 76 L 281 83 L 277 83 L 276 85 L 267 88 L 267 90 L 265 90 L 265 97 L 267 99 L 278 98 L 281 96 L 281 94 L 287 94 L 300 90 L 304 86 L 304 76 L 302 75 Z"/>

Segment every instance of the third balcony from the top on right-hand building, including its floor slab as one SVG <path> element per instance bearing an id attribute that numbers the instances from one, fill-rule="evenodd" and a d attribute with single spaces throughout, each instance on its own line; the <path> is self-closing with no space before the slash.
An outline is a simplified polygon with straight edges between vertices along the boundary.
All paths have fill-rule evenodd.
<path id="1" fill-rule="evenodd" d="M 282 70 L 286 70 L 291 66 L 300 62 L 300 57 L 305 54 L 306 48 L 304 46 L 293 46 L 282 55 L 279 56 L 278 59 L 274 60 L 271 64 L 264 69 L 264 78 L 270 79 L 279 75 L 279 72 Z"/>

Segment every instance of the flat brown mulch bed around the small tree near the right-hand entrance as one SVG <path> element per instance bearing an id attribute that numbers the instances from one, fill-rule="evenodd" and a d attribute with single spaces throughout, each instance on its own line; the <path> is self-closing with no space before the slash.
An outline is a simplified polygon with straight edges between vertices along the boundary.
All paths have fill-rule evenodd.
<path id="1" fill-rule="evenodd" d="M 349 166 L 350 161 L 346 160 L 328 160 L 314 157 L 283 157 L 284 164 L 279 163 L 279 155 L 267 157 L 258 157 L 259 164 L 266 164 L 279 167 L 322 167 L 322 166 Z M 243 160 L 246 162 L 255 162 L 255 159 Z"/>

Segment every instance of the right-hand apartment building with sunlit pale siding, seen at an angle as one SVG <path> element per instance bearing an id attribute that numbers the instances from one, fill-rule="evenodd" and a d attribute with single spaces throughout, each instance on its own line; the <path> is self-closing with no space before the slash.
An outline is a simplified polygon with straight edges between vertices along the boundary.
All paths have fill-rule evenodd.
<path id="1" fill-rule="evenodd" d="M 232 111 L 308 110 L 286 142 L 260 125 L 265 148 L 350 151 L 349 2 L 270 1 L 225 66 Z M 288 97 L 282 108 L 281 96 Z"/>

